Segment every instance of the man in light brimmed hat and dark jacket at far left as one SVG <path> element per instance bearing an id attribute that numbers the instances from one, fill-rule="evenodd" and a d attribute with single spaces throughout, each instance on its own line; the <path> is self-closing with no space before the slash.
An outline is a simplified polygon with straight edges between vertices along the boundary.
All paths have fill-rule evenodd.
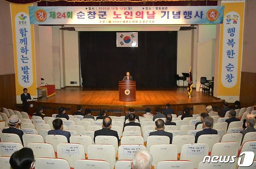
<path id="1" fill-rule="evenodd" d="M 19 136 L 19 138 L 21 139 L 21 143 L 23 144 L 23 140 L 22 140 L 22 136 L 23 136 L 23 131 L 20 130 L 20 124 L 21 124 L 21 120 L 19 119 L 18 115 L 12 115 L 9 119 L 8 119 L 8 124 L 9 124 L 9 128 L 7 129 L 3 129 L 2 133 L 10 133 L 10 134 L 16 134 Z"/>

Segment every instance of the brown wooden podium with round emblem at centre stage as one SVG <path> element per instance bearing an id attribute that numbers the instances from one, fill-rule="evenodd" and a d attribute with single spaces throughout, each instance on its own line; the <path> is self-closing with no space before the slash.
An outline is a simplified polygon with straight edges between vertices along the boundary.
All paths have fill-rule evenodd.
<path id="1" fill-rule="evenodd" d="M 119 101 L 136 101 L 136 82 L 131 80 L 119 81 Z"/>

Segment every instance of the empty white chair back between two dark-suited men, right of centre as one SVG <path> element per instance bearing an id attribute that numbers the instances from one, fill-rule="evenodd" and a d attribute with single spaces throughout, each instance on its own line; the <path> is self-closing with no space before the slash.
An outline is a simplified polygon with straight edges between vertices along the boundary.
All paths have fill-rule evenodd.
<path id="1" fill-rule="evenodd" d="M 172 138 L 172 144 L 177 145 L 178 153 L 181 152 L 181 148 L 184 144 L 195 143 L 195 136 L 191 135 L 179 135 Z"/>

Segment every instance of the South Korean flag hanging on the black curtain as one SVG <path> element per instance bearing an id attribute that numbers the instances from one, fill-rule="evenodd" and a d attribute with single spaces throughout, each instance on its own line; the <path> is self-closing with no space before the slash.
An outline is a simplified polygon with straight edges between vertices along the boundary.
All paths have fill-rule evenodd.
<path id="1" fill-rule="evenodd" d="M 117 32 L 116 47 L 138 47 L 138 32 Z"/>

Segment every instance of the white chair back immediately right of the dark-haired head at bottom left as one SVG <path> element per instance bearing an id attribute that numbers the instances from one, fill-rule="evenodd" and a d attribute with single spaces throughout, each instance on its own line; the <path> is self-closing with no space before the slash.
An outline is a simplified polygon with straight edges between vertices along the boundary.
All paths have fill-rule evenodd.
<path id="1" fill-rule="evenodd" d="M 33 150 L 35 159 L 40 157 L 55 158 L 53 145 L 49 143 L 28 143 L 27 147 Z"/>

